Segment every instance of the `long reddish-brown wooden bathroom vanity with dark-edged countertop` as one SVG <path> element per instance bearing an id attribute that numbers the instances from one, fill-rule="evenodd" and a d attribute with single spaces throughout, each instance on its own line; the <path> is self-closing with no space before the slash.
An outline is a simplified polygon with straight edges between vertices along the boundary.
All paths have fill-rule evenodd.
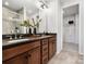
<path id="1" fill-rule="evenodd" d="M 47 64 L 56 54 L 56 35 L 26 38 L 24 41 L 3 40 L 3 64 Z M 28 40 L 27 40 L 28 39 Z"/>

